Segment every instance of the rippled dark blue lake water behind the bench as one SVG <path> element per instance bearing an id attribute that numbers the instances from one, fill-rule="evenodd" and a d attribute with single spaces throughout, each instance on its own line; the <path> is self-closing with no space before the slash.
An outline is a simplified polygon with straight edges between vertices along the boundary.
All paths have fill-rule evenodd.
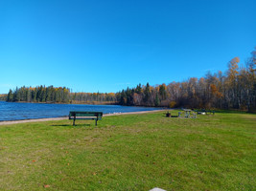
<path id="1" fill-rule="evenodd" d="M 150 107 L 130 107 L 120 105 L 79 105 L 48 103 L 15 103 L 0 101 L 0 121 L 29 118 L 65 117 L 69 111 L 94 111 L 104 114 L 128 113 L 159 110 Z"/>

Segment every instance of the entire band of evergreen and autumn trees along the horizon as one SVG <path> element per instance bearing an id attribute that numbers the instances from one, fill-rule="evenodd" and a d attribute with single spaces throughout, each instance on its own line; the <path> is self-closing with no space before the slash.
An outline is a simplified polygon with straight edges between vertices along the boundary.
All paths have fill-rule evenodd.
<path id="1" fill-rule="evenodd" d="M 21 87 L 10 90 L 7 101 L 120 104 L 128 106 L 188 107 L 256 110 L 256 48 L 251 57 L 239 66 L 235 57 L 226 72 L 191 77 L 182 82 L 146 86 L 138 84 L 114 93 L 71 93 L 65 87 Z M 0 99 L 3 96 L 0 96 Z"/>

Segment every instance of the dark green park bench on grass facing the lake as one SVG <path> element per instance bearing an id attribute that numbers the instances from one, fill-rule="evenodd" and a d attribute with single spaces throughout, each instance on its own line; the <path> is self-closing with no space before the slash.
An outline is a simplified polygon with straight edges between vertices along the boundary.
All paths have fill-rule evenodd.
<path id="1" fill-rule="evenodd" d="M 81 112 L 81 111 L 70 111 L 69 119 L 73 119 L 73 125 L 75 126 L 75 121 L 77 119 L 83 120 L 95 120 L 95 125 L 97 126 L 97 121 L 101 120 L 103 117 L 102 112 Z"/>

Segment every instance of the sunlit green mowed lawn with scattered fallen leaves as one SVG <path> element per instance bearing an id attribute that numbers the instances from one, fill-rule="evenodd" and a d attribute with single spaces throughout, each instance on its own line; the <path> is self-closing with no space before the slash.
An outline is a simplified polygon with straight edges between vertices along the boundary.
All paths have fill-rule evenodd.
<path id="1" fill-rule="evenodd" d="M 0 190 L 256 189 L 255 115 L 163 113 L 0 126 Z"/>

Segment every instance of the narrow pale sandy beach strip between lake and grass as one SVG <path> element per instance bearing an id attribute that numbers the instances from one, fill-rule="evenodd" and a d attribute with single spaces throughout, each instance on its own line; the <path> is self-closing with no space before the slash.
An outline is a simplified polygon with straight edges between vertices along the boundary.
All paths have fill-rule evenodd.
<path id="1" fill-rule="evenodd" d="M 134 114 L 147 114 L 147 113 L 154 113 L 154 112 L 159 112 L 159 111 L 165 111 L 165 110 L 151 110 L 151 111 L 141 111 L 141 112 L 104 114 L 103 117 L 134 115 Z M 65 119 L 68 119 L 68 117 L 49 117 L 49 118 L 31 118 L 31 119 L 22 119 L 22 120 L 4 120 L 4 121 L 0 121 L 0 126 L 1 125 L 27 123 L 27 122 L 43 122 L 43 121 L 53 121 L 53 120 L 65 120 Z"/>

